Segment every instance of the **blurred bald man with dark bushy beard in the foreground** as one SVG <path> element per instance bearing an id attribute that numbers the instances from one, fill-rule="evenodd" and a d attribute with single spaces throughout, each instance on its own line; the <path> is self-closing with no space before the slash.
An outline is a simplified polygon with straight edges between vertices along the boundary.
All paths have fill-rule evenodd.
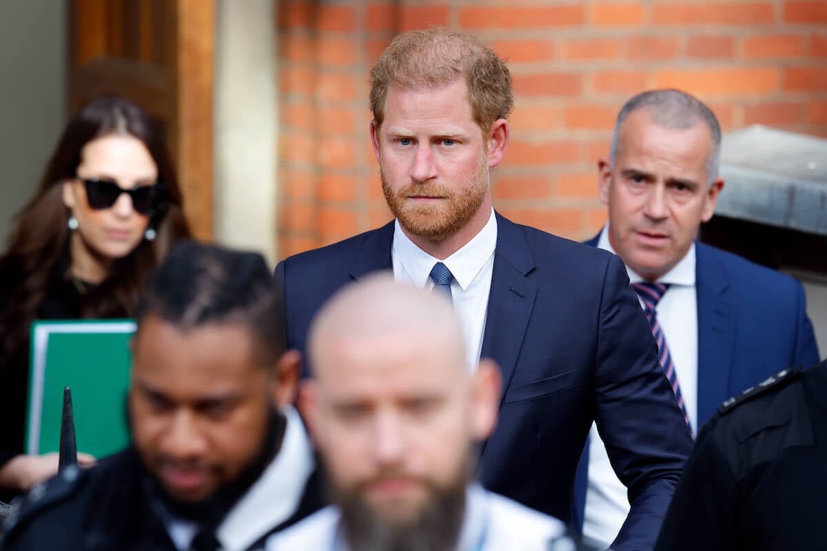
<path id="1" fill-rule="evenodd" d="M 344 287 L 309 332 L 299 406 L 335 506 L 267 549 L 552 549 L 561 522 L 471 482 L 500 374 L 467 367 L 451 303 L 390 276 Z"/>

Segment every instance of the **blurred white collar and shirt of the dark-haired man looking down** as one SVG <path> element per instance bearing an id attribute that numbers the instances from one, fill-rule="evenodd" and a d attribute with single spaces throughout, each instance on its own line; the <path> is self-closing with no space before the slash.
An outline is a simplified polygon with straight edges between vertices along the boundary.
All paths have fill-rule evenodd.
<path id="1" fill-rule="evenodd" d="M 223 551 L 249 548 L 299 508 L 315 468 L 313 447 L 299 412 L 293 406 L 285 406 L 283 412 L 287 422 L 279 453 L 218 527 Z M 189 549 L 198 526 L 184 520 L 168 520 L 165 525 L 175 547 Z"/>

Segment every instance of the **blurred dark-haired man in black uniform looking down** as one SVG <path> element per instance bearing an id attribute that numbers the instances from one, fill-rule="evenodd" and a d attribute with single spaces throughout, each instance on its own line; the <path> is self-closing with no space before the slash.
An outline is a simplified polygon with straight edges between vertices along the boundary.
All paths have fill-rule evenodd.
<path id="1" fill-rule="evenodd" d="M 31 492 L 4 549 L 261 549 L 321 505 L 261 255 L 179 245 L 136 318 L 131 447 Z"/>

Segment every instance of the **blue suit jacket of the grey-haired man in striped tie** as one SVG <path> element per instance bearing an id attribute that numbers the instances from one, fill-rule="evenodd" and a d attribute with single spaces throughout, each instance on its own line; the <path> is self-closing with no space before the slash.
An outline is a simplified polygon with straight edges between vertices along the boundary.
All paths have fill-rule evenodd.
<path id="1" fill-rule="evenodd" d="M 586 245 L 597 246 L 598 237 Z M 698 427 L 721 402 L 793 365 L 819 362 L 804 288 L 796 279 L 696 242 Z M 586 503 L 588 448 L 577 476 Z"/>

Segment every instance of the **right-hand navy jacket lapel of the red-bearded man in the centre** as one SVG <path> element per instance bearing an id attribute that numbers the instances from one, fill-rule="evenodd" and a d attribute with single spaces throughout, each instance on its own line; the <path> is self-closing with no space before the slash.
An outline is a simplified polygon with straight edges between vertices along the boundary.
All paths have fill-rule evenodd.
<path id="1" fill-rule="evenodd" d="M 514 374 L 537 297 L 537 285 L 526 277 L 533 269 L 534 260 L 522 230 L 498 214 L 481 356 L 495 359 L 500 366 L 503 377 L 500 405 Z"/>

